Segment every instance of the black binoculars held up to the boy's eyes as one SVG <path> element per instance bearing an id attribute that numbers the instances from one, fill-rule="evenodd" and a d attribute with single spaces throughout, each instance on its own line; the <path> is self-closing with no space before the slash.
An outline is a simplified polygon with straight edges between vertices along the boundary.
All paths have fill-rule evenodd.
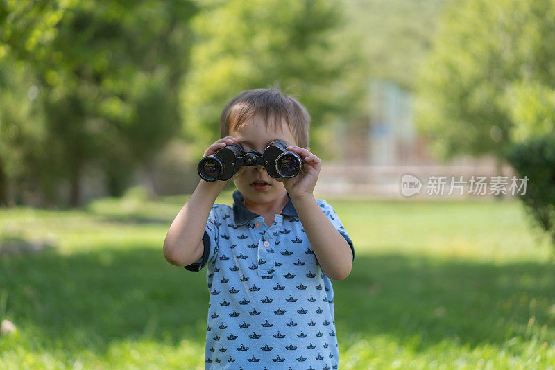
<path id="1" fill-rule="evenodd" d="M 300 173 L 302 160 L 296 152 L 287 150 L 287 144 L 281 140 L 271 141 L 264 153 L 245 152 L 240 143 L 232 143 L 200 159 L 197 170 L 201 179 L 214 182 L 232 178 L 241 166 L 264 166 L 275 179 L 289 178 Z"/>

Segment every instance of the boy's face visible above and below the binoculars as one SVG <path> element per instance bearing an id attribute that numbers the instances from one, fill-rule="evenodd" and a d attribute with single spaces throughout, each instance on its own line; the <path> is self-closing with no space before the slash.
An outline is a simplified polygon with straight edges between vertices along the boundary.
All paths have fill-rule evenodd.
<path id="1" fill-rule="evenodd" d="M 239 130 L 231 130 L 230 136 L 241 143 L 245 152 L 257 150 L 262 153 L 270 141 L 275 139 L 285 141 L 288 146 L 297 145 L 286 123 L 282 123 L 282 126 L 275 131 L 271 127 L 267 127 L 264 118 L 260 116 L 254 116 Z M 244 172 L 233 182 L 246 200 L 264 204 L 274 202 L 287 193 L 283 183 L 268 175 L 264 166 L 245 167 Z M 257 186 L 256 182 L 265 182 L 267 185 Z"/>

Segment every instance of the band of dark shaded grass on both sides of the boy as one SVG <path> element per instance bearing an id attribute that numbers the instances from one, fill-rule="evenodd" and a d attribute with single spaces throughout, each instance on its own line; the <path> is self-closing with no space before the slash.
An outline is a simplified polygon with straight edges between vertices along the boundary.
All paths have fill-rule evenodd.
<path id="1" fill-rule="evenodd" d="M 338 337 L 388 334 L 415 351 L 446 337 L 470 346 L 502 343 L 522 335 L 533 298 L 536 321 L 553 326 L 545 302 L 555 303 L 554 272 L 553 265 L 538 263 L 358 255 L 348 279 L 332 282 Z M 0 296 L 4 290 L 6 316 L 22 330 L 34 328 L 34 341 L 44 349 L 58 342 L 69 351 L 104 353 L 112 340 L 143 336 L 204 345 L 206 270 L 171 266 L 161 250 L 6 256 Z"/>

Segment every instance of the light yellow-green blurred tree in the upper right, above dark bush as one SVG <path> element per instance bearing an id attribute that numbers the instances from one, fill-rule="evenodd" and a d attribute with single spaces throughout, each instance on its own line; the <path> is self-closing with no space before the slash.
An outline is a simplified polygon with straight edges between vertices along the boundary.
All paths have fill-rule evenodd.
<path id="1" fill-rule="evenodd" d="M 525 89 L 545 98 L 555 87 L 554 33 L 551 0 L 452 3 L 418 80 L 418 125 L 438 154 L 502 157 L 536 125 L 515 99 L 529 100 Z"/>

